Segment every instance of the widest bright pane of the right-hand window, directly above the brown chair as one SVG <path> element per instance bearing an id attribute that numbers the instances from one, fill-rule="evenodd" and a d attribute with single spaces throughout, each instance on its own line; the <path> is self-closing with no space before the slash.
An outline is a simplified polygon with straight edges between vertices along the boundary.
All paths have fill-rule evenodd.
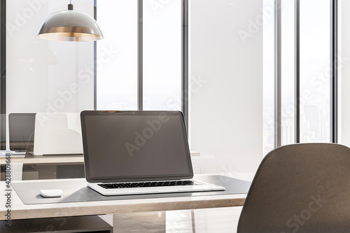
<path id="1" fill-rule="evenodd" d="M 300 1 L 300 142 L 330 142 L 329 0 Z"/>

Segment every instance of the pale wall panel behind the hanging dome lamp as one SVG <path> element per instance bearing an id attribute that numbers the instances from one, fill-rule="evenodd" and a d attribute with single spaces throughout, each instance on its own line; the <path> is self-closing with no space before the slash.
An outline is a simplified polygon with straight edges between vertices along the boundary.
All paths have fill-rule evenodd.
<path id="1" fill-rule="evenodd" d="M 94 43 L 36 38 L 45 18 L 66 10 L 68 3 L 6 1 L 6 118 L 10 113 L 55 115 L 94 108 Z M 94 16 L 93 0 L 73 5 Z M 8 149 L 8 140 L 6 144 Z"/>

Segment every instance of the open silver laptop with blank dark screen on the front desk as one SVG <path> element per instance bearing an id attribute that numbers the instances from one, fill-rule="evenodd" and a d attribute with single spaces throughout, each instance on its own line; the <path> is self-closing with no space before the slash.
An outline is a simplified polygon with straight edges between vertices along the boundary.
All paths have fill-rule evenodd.
<path id="1" fill-rule="evenodd" d="M 225 190 L 194 181 L 179 111 L 80 113 L 87 186 L 102 195 Z"/>

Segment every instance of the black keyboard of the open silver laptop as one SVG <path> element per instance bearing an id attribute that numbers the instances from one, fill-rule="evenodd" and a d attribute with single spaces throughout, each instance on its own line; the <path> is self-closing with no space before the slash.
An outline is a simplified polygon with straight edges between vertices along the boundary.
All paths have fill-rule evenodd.
<path id="1" fill-rule="evenodd" d="M 202 185 L 194 181 L 153 181 L 153 182 L 132 182 L 132 183 L 102 183 L 102 188 L 144 188 L 144 187 L 162 187 L 162 186 L 179 186 L 179 185 Z"/>

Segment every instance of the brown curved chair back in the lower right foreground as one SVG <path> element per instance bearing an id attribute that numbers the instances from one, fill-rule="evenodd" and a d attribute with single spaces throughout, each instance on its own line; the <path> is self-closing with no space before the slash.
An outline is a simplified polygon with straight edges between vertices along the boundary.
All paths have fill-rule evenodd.
<path id="1" fill-rule="evenodd" d="M 282 146 L 262 160 L 238 233 L 350 232 L 350 148 Z"/>

